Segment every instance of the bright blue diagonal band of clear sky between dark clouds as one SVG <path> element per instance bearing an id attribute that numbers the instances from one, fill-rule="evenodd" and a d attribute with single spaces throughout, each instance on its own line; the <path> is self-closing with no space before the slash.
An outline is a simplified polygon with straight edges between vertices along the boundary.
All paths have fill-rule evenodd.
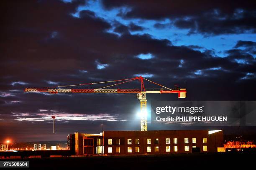
<path id="1" fill-rule="evenodd" d="M 71 0 L 64 0 L 65 2 L 70 2 Z M 103 8 L 100 0 L 90 0 L 86 5 L 79 6 L 77 8 L 77 12 L 73 13 L 74 17 L 79 17 L 79 12 L 82 10 L 90 10 L 95 13 L 97 17 L 103 18 L 110 24 L 114 24 L 116 21 L 123 24 L 129 25 L 130 23 L 134 23 L 139 25 L 144 30 L 140 31 L 131 31 L 131 34 L 150 34 L 153 38 L 156 39 L 168 39 L 172 41 L 172 44 L 175 46 L 190 46 L 197 45 L 203 47 L 202 49 L 197 49 L 199 51 L 214 50 L 215 56 L 225 57 L 225 51 L 233 48 L 237 41 L 254 41 L 256 39 L 256 35 L 253 33 L 241 33 L 241 34 L 223 34 L 217 36 L 204 36 L 200 33 L 190 34 L 189 29 L 180 29 L 172 25 L 172 20 L 168 18 L 164 20 L 145 20 L 145 19 L 126 19 L 118 16 L 120 11 L 127 12 L 131 9 L 128 7 L 121 8 L 113 8 L 111 10 L 106 10 Z M 166 28 L 155 28 L 154 24 L 169 24 Z M 114 27 L 108 30 L 109 33 L 115 33 Z"/>

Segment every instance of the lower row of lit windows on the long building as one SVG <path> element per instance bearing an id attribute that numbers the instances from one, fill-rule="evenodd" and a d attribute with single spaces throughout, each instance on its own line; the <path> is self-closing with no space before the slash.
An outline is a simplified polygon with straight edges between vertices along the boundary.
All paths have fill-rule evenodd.
<path id="1" fill-rule="evenodd" d="M 196 146 L 192 146 L 192 147 L 196 147 Z M 174 152 L 178 152 L 178 147 L 174 146 L 173 147 Z M 189 151 L 189 146 L 185 146 L 184 147 L 185 152 Z M 207 151 L 207 145 L 203 146 L 203 151 Z M 108 153 L 112 153 L 112 147 L 108 147 Z M 120 147 L 115 147 L 115 152 L 116 153 L 120 153 Z M 131 153 L 132 152 L 132 147 L 127 147 L 127 152 Z M 140 152 L 140 147 L 135 147 L 135 152 Z M 147 152 L 151 152 L 151 146 L 147 147 Z M 159 146 L 155 146 L 154 147 L 154 152 L 159 152 Z M 166 152 L 171 152 L 171 147 L 170 146 L 166 146 Z"/>

